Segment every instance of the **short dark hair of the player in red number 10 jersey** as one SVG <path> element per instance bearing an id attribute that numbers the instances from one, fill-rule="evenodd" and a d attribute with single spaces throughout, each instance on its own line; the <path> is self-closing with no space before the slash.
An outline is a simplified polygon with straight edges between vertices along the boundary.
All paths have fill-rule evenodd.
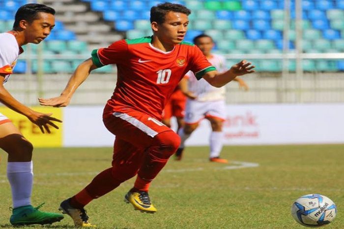
<path id="1" fill-rule="evenodd" d="M 161 4 L 158 4 L 157 6 L 153 6 L 152 8 L 150 8 L 150 23 L 152 22 L 156 22 L 158 24 L 164 23 L 165 16 L 170 11 L 184 13 L 186 15 L 191 14 L 191 10 L 186 8 L 184 5 L 165 2 L 165 3 L 161 3 Z"/>

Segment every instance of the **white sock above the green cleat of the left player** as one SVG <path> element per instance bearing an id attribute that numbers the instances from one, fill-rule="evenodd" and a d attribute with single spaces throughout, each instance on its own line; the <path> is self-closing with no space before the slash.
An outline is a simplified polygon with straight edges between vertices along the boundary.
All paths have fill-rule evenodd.
<path id="1" fill-rule="evenodd" d="M 7 163 L 7 178 L 11 185 L 13 208 L 31 205 L 32 161 Z"/>

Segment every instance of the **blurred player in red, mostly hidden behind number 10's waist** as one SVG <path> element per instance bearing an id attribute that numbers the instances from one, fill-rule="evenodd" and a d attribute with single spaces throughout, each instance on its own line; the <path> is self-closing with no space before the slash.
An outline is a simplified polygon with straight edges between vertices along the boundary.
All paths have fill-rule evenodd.
<path id="1" fill-rule="evenodd" d="M 185 103 L 186 96 L 178 85 L 165 105 L 162 123 L 171 128 L 171 118 L 174 116 L 177 121 L 176 131 L 182 128 L 184 126 Z"/>

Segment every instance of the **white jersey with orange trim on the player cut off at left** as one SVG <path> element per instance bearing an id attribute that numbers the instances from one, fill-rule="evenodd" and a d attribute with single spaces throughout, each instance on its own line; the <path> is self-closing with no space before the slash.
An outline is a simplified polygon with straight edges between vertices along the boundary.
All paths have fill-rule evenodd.
<path id="1" fill-rule="evenodd" d="M 21 48 L 12 33 L 0 33 L 0 73 L 5 75 L 6 83 L 17 63 Z"/>

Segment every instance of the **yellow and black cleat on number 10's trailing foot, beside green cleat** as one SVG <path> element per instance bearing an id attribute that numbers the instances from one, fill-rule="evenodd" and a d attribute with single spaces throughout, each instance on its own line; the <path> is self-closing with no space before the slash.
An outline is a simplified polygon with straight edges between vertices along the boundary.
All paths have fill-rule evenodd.
<path id="1" fill-rule="evenodd" d="M 74 225 L 77 228 L 95 228 L 88 222 L 88 216 L 84 208 L 75 208 L 69 204 L 70 199 L 63 200 L 58 210 L 62 211 L 63 214 L 69 215 L 74 221 Z"/>

